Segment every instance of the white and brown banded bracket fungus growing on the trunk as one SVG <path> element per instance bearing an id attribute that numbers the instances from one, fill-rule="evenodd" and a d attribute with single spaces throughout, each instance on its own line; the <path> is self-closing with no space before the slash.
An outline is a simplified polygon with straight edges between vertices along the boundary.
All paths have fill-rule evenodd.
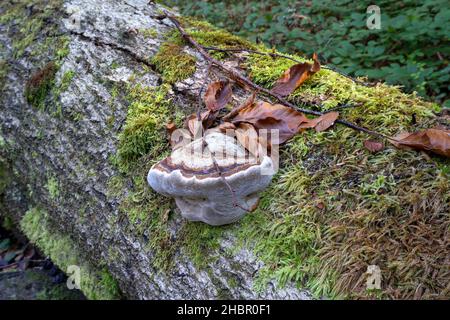
<path id="1" fill-rule="evenodd" d="M 217 226 L 256 209 L 258 192 L 273 174 L 269 156 L 256 158 L 234 137 L 212 131 L 156 163 L 147 180 L 156 192 L 174 197 L 186 219 Z"/>

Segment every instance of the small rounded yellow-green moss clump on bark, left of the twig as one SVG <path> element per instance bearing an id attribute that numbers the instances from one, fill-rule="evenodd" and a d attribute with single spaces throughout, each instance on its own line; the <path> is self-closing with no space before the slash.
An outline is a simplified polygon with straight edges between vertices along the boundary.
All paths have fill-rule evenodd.
<path id="1" fill-rule="evenodd" d="M 195 58 L 183 52 L 183 47 L 175 43 L 162 44 L 152 58 L 152 63 L 167 83 L 184 80 L 195 72 Z"/>

